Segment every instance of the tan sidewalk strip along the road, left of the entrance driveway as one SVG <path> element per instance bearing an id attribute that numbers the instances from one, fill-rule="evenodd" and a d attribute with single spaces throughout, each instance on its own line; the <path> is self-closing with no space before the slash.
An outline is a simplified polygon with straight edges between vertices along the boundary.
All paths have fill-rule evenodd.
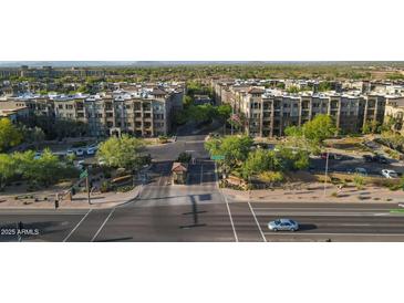
<path id="1" fill-rule="evenodd" d="M 85 192 L 77 194 L 73 197 L 72 201 L 63 200 L 59 203 L 59 209 L 106 209 L 117 207 L 120 205 L 127 203 L 137 198 L 142 190 L 142 186 L 135 187 L 127 192 L 104 192 L 93 194 L 91 196 L 91 205 L 87 202 L 87 196 Z M 28 203 L 24 203 L 28 202 Z M 54 209 L 54 200 L 38 201 L 32 199 L 14 200 L 0 198 L 1 209 Z"/>

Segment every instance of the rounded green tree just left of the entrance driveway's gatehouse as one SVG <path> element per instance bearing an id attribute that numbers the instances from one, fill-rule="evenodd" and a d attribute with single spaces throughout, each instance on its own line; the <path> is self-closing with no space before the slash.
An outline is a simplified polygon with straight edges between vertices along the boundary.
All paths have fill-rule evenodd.
<path id="1" fill-rule="evenodd" d="M 143 140 L 128 135 L 111 137 L 101 144 L 97 158 L 110 167 L 137 169 L 142 161 L 139 153 L 144 146 Z"/>

